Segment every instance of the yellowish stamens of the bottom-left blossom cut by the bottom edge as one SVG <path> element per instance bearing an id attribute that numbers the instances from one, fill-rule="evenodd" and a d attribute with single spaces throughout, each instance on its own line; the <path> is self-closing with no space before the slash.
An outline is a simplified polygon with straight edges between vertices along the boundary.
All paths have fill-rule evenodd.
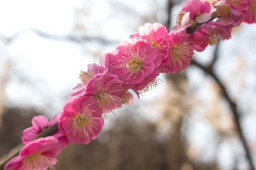
<path id="1" fill-rule="evenodd" d="M 22 169 L 54 169 L 52 162 L 55 161 L 52 157 L 47 157 L 40 153 L 33 154 L 24 160 Z"/>

